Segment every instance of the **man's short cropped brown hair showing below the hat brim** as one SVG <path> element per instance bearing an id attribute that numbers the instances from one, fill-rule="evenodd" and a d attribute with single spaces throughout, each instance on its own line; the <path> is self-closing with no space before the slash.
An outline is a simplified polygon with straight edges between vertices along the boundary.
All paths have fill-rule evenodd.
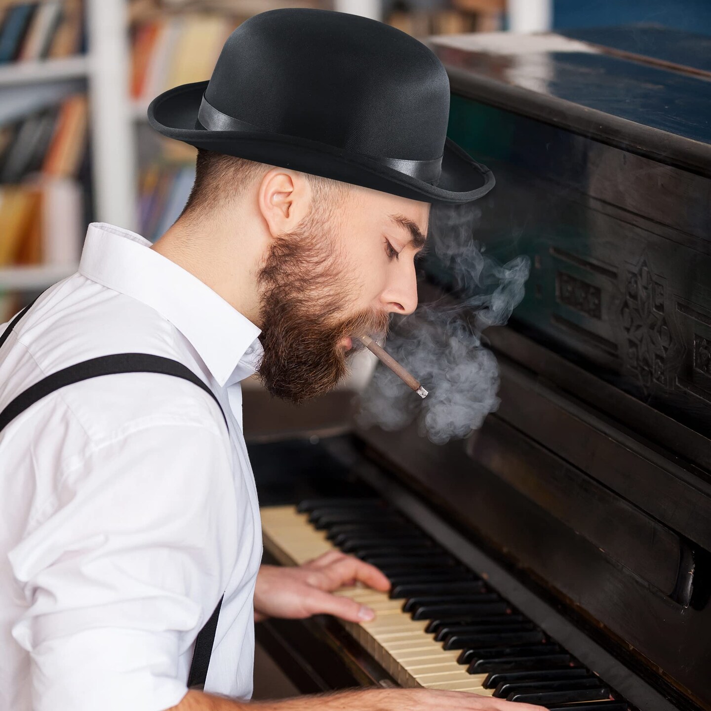
<path id="1" fill-rule="evenodd" d="M 190 222 L 205 220 L 235 198 L 240 198 L 252 183 L 274 166 L 245 158 L 198 149 L 195 182 L 180 218 Z M 304 173 L 314 192 L 317 209 L 340 205 L 348 193 L 348 183 Z"/>

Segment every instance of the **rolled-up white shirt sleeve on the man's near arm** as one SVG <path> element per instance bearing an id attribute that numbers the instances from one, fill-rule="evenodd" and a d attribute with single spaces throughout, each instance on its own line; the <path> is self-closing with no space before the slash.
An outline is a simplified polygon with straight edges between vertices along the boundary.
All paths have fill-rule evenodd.
<path id="1" fill-rule="evenodd" d="M 10 552 L 28 601 L 12 634 L 35 711 L 162 711 L 237 555 L 225 434 L 149 426 L 91 451 Z"/>

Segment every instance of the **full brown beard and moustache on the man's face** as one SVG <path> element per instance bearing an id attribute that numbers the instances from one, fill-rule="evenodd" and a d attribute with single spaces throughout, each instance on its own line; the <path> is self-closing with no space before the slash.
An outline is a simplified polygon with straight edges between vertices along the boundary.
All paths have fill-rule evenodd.
<path id="1" fill-rule="evenodd" d="M 357 346 L 344 352 L 342 338 L 387 332 L 385 311 L 338 316 L 348 294 L 358 292 L 338 264 L 327 228 L 310 215 L 294 232 L 276 237 L 258 275 L 264 348 L 258 375 L 272 395 L 294 403 L 332 390 L 348 375 L 348 355 Z"/>

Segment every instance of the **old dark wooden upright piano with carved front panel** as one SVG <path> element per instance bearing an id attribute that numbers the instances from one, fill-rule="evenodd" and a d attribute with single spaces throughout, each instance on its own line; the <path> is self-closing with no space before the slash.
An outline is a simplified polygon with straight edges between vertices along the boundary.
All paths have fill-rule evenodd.
<path id="1" fill-rule="evenodd" d="M 341 593 L 372 622 L 270 620 L 258 639 L 304 692 L 710 710 L 711 38 L 430 46 L 449 135 L 497 181 L 465 238 L 531 264 L 485 332 L 501 404 L 444 445 L 333 418 L 253 437 L 265 560 L 340 548 L 392 582 Z M 467 296 L 434 258 L 421 282 L 424 300 Z"/>

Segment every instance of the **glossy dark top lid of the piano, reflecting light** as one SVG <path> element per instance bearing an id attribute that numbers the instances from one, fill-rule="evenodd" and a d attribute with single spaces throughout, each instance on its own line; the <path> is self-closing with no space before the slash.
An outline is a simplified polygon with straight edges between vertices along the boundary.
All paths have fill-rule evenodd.
<path id="1" fill-rule="evenodd" d="M 428 44 L 453 92 L 711 171 L 711 38 L 638 26 L 566 34 L 470 33 Z"/>

